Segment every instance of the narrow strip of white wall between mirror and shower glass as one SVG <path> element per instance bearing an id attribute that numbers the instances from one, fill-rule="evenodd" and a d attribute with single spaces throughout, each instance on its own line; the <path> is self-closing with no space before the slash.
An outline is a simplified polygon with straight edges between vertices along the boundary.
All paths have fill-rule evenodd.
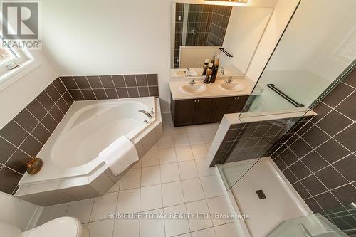
<path id="1" fill-rule="evenodd" d="M 271 19 L 268 22 L 265 33 L 261 38 L 251 64 L 248 67 L 246 76 L 251 80 L 257 81 L 263 68 L 268 62 L 273 49 L 276 47 L 279 38 L 287 26 L 299 0 L 278 0 L 274 7 Z"/>

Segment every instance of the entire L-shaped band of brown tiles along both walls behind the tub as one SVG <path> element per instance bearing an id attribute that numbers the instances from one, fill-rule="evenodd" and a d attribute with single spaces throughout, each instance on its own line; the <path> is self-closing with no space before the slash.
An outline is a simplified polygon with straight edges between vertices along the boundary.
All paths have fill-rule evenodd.
<path id="1" fill-rule="evenodd" d="M 157 74 L 56 78 L 0 130 L 0 191 L 16 192 L 26 162 L 36 157 L 74 100 L 158 95 Z"/>

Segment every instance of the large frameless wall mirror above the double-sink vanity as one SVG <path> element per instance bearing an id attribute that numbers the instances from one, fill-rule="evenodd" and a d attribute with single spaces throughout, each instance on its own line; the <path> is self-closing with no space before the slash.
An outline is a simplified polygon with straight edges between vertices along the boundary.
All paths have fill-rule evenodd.
<path id="1" fill-rule="evenodd" d="M 204 61 L 213 55 L 219 57 L 219 75 L 244 75 L 271 13 L 270 8 L 173 3 L 171 76 L 202 75 Z"/>

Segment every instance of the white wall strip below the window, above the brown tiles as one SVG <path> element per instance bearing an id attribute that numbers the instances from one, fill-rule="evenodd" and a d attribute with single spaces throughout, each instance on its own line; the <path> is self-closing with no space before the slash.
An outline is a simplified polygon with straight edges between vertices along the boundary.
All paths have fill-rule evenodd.
<path id="1" fill-rule="evenodd" d="M 41 51 L 31 51 L 31 54 L 41 65 L 0 91 L 0 129 L 57 78 L 58 74 Z"/>

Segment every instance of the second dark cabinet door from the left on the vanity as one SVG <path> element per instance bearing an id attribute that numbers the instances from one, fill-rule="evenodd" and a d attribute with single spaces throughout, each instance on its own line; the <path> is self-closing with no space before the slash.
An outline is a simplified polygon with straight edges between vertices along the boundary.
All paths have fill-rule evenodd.
<path id="1" fill-rule="evenodd" d="M 211 109 L 213 108 L 215 98 L 197 99 L 195 102 L 193 124 L 199 125 L 209 122 Z"/>

